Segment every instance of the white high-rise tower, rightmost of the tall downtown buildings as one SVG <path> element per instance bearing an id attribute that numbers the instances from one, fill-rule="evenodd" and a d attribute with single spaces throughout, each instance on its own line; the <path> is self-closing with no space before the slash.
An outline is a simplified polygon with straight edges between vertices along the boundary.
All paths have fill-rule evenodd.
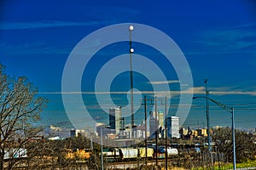
<path id="1" fill-rule="evenodd" d="M 167 118 L 167 129 L 168 129 L 168 138 L 180 138 L 179 135 L 179 125 L 178 125 L 178 117 L 171 116 Z"/>

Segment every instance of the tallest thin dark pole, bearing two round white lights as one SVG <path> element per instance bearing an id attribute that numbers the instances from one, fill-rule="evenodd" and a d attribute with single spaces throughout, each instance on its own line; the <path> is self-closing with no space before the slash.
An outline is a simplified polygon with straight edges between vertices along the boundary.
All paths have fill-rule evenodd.
<path id="1" fill-rule="evenodd" d="M 133 127 L 134 127 L 134 115 L 133 115 L 133 72 L 132 72 L 132 58 L 131 54 L 134 53 L 134 49 L 131 46 L 131 31 L 133 31 L 133 26 L 129 26 L 130 35 L 130 82 L 131 82 L 131 139 L 134 137 Z"/>

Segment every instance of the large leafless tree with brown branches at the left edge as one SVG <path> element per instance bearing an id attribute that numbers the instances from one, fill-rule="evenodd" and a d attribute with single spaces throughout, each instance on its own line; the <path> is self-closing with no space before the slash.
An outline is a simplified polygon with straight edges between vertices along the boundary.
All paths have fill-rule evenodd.
<path id="1" fill-rule="evenodd" d="M 0 94 L 0 169 L 4 168 L 6 155 L 11 159 L 11 169 L 15 161 L 9 150 L 24 147 L 25 134 L 32 134 L 33 123 L 39 120 L 47 100 L 38 97 L 38 89 L 26 77 L 9 77 L 1 64 Z"/>

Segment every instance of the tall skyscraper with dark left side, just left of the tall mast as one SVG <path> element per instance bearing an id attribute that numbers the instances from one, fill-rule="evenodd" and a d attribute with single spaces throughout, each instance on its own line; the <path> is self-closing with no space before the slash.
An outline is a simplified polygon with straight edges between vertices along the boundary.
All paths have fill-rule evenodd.
<path id="1" fill-rule="evenodd" d="M 119 134 L 121 128 L 121 107 L 109 109 L 109 126 L 114 129 L 116 134 Z"/>

